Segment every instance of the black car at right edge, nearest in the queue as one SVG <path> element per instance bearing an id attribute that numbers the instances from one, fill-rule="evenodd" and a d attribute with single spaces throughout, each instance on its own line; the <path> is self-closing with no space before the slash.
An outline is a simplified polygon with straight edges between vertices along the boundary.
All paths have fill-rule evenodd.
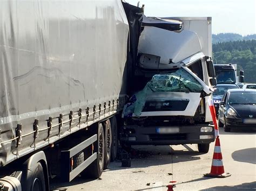
<path id="1" fill-rule="evenodd" d="M 231 128 L 256 128 L 256 90 L 229 89 L 219 103 L 218 124 Z"/>

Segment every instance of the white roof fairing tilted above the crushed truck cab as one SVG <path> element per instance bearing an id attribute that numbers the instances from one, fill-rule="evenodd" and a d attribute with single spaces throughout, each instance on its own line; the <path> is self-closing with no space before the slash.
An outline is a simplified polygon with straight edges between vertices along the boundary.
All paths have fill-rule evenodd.
<path id="1" fill-rule="evenodd" d="M 147 64 L 151 59 L 140 59 L 142 68 L 167 69 L 202 51 L 199 37 L 188 30 L 173 32 L 158 27 L 145 26 L 139 38 L 138 53 L 158 56 L 159 61 Z M 148 57 L 148 56 L 146 56 Z"/>

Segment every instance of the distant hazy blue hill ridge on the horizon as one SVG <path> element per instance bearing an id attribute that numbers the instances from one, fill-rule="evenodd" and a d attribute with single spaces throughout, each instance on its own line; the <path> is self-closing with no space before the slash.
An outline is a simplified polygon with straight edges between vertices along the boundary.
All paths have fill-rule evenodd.
<path id="1" fill-rule="evenodd" d="M 245 37 L 241 36 L 241 34 L 235 33 L 212 34 L 213 44 L 237 40 L 256 40 L 256 34 L 247 35 Z"/>

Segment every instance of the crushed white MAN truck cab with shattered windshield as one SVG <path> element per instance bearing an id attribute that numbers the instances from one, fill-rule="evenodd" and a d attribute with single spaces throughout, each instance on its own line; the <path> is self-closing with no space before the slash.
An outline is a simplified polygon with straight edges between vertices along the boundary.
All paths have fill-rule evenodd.
<path id="1" fill-rule="evenodd" d="M 208 99 L 216 84 L 211 55 L 190 23 L 143 17 L 137 83 L 123 111 L 123 144 L 209 144 Z M 211 40 L 211 39 L 210 39 Z M 141 88 L 144 87 L 144 88 Z"/>

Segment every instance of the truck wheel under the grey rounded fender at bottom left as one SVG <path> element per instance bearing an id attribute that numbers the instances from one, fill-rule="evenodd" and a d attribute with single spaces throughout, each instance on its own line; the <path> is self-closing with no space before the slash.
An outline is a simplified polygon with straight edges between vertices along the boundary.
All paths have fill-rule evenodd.
<path id="1" fill-rule="evenodd" d="M 45 180 L 44 180 L 44 170 L 40 162 L 37 162 L 35 166 L 35 171 L 33 173 L 31 191 L 44 191 L 45 190 Z"/>

